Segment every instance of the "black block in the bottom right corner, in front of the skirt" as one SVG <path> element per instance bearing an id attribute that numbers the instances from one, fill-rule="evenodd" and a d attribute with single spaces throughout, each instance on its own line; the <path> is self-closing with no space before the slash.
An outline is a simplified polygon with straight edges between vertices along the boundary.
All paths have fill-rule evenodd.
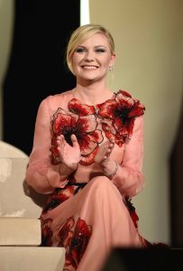
<path id="1" fill-rule="evenodd" d="M 101 271 L 182 271 L 183 250 L 114 248 Z"/>

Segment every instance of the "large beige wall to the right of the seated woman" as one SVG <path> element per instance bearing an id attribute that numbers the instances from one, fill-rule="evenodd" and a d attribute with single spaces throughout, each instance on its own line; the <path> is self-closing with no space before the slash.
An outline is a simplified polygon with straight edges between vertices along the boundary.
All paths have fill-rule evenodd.
<path id="1" fill-rule="evenodd" d="M 90 22 L 114 35 L 116 63 L 109 79 L 145 104 L 145 189 L 133 199 L 140 231 L 169 243 L 169 152 L 182 96 L 183 1 L 91 0 Z"/>

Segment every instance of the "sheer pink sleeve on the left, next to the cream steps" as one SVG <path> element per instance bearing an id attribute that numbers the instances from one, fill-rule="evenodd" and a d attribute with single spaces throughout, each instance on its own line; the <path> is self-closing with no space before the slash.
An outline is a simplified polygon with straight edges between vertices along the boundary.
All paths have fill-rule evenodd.
<path id="1" fill-rule="evenodd" d="M 51 164 L 51 139 L 50 139 L 50 97 L 41 101 L 35 122 L 32 153 L 26 170 L 26 182 L 35 191 L 50 193 L 54 188 L 50 187 L 50 180 L 59 182 L 59 164 Z M 64 182 L 62 181 L 63 186 Z"/>

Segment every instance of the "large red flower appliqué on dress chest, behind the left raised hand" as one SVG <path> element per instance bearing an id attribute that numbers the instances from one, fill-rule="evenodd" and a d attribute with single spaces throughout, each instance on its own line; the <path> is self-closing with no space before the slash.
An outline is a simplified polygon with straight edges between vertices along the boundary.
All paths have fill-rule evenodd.
<path id="1" fill-rule="evenodd" d="M 64 135 L 71 145 L 70 135 L 75 134 L 81 150 L 80 164 L 93 164 L 98 145 L 104 138 L 102 131 L 96 129 L 95 107 L 80 103 L 76 98 L 69 101 L 69 112 L 58 108 L 51 121 L 51 151 L 53 163 L 58 164 L 57 136 Z"/>

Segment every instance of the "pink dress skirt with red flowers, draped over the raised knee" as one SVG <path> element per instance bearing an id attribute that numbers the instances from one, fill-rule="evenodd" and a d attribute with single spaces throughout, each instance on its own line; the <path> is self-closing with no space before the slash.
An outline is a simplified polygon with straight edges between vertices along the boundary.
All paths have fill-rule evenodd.
<path id="1" fill-rule="evenodd" d="M 111 249 L 145 246 L 137 220 L 132 203 L 105 176 L 70 181 L 41 212 L 41 246 L 66 248 L 64 271 L 101 271 Z"/>

